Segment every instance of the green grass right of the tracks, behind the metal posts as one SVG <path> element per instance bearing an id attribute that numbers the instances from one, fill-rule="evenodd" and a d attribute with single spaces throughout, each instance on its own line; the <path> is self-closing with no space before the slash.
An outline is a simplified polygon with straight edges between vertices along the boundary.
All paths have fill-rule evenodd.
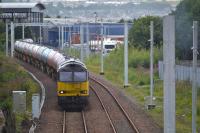
<path id="1" fill-rule="evenodd" d="M 163 127 L 163 82 L 158 78 L 157 62 L 161 59 L 162 50 L 155 48 L 154 66 L 155 66 L 155 92 L 157 107 L 146 111 Z M 105 78 L 123 89 L 123 48 L 111 52 L 104 58 Z M 91 55 L 85 61 L 88 69 L 92 72 L 100 72 L 100 56 Z M 149 51 L 129 48 L 129 83 L 131 86 L 124 89 L 142 106 L 145 105 L 144 97 L 149 96 Z M 198 93 L 198 96 L 200 91 Z M 191 113 L 192 113 L 192 94 L 189 82 L 176 82 L 176 130 L 177 133 L 191 132 Z M 197 124 L 200 127 L 200 101 L 198 100 Z"/>

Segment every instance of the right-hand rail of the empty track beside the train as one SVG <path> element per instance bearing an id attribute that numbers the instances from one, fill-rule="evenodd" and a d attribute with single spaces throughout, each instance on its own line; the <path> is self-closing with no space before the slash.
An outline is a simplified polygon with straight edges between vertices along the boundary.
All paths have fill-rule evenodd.
<path id="1" fill-rule="evenodd" d="M 136 133 L 140 133 L 139 129 L 136 127 L 136 125 L 133 123 L 133 121 L 130 119 L 129 115 L 127 114 L 127 112 L 125 111 L 125 109 L 122 107 L 122 105 L 119 103 L 119 101 L 117 100 L 117 98 L 110 92 L 110 90 L 108 89 L 107 86 L 105 86 L 104 84 L 102 84 L 101 82 L 99 82 L 98 80 L 96 80 L 93 77 L 89 77 L 91 80 L 93 80 L 94 82 L 98 83 L 100 86 L 102 86 L 115 100 L 115 102 L 117 103 L 117 105 L 119 106 L 119 108 L 121 109 L 121 111 L 123 112 L 123 114 L 125 115 L 125 117 L 127 118 L 127 120 L 129 121 L 130 125 L 132 126 L 132 128 L 135 130 Z"/>

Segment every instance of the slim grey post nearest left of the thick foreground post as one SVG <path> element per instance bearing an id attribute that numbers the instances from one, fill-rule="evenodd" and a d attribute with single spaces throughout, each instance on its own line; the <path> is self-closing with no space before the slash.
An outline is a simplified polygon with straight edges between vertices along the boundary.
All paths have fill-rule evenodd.
<path id="1" fill-rule="evenodd" d="M 150 104 L 148 105 L 148 109 L 153 109 L 155 104 L 153 103 L 153 91 L 154 91 L 154 83 L 153 83 L 153 45 L 154 45 L 154 23 L 151 21 L 150 24 Z"/>

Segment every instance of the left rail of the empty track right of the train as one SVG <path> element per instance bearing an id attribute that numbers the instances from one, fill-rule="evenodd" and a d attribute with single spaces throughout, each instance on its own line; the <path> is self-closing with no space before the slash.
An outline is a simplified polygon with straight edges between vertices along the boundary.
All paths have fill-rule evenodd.
<path id="1" fill-rule="evenodd" d="M 97 94 L 97 92 L 95 91 L 95 89 L 94 89 L 91 85 L 90 85 L 90 88 L 91 88 L 91 90 L 94 91 L 95 95 L 96 95 L 97 98 L 99 99 L 99 101 L 100 101 L 100 103 L 101 103 L 101 106 L 102 106 L 103 110 L 105 111 L 106 116 L 107 116 L 107 118 L 108 118 L 108 120 L 109 120 L 109 122 L 110 122 L 110 125 L 111 125 L 112 129 L 113 129 L 113 132 L 114 132 L 114 133 L 117 133 L 117 131 L 116 131 L 116 129 L 115 129 L 115 126 L 114 126 L 114 124 L 113 124 L 113 122 L 112 122 L 112 120 L 111 120 L 111 118 L 110 118 L 110 115 L 109 115 L 107 109 L 105 108 L 105 105 L 103 104 L 101 98 L 99 97 L 99 95 Z"/>

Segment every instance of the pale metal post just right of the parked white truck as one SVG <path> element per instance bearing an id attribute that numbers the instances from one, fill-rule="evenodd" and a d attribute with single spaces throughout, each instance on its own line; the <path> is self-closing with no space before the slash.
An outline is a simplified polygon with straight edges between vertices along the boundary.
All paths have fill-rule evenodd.
<path id="1" fill-rule="evenodd" d="M 124 87 L 128 87 L 128 23 L 124 23 Z"/>

